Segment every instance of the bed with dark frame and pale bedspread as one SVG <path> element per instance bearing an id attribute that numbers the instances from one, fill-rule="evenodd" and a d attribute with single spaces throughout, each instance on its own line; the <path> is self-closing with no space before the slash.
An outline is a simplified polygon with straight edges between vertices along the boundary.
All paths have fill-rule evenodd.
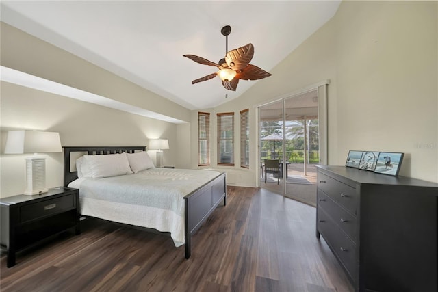
<path id="1" fill-rule="evenodd" d="M 130 170 L 135 170 L 138 159 L 131 157 L 145 153 L 144 146 L 64 147 L 64 186 L 79 188 L 81 215 L 84 217 L 170 232 L 175 246 L 185 245 L 185 258 L 190 258 L 192 235 L 222 200 L 224 205 L 227 204 L 225 172 L 148 168 L 96 179 L 83 178 L 84 170 L 80 165 L 78 177 L 75 168 L 79 158 L 82 161 L 84 158 L 107 159 L 127 155 Z M 127 190 L 130 190 L 129 196 L 125 194 Z M 161 204 L 166 207 L 160 207 Z"/>

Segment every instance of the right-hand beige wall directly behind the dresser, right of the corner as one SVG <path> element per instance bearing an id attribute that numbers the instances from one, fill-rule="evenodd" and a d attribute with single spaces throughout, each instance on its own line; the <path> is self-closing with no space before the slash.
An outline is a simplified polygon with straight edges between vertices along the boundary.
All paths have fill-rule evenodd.
<path id="1" fill-rule="evenodd" d="M 400 174 L 438 181 L 436 6 L 342 3 L 337 163 L 348 149 L 405 152 Z"/>

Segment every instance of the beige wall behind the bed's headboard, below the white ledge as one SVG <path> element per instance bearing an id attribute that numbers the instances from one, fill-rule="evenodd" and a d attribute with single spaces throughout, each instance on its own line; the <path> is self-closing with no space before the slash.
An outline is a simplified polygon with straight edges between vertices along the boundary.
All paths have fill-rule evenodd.
<path id="1" fill-rule="evenodd" d="M 62 146 L 147 146 L 149 138 L 166 137 L 164 164 L 177 165 L 177 129 L 172 124 L 72 98 L 1 82 L 1 149 L 8 130 L 32 129 L 60 133 Z M 190 127 L 188 124 L 185 127 Z M 149 155 L 155 163 L 155 151 Z M 25 157 L 1 150 L 1 197 L 25 190 Z M 63 183 L 62 153 L 47 157 L 47 187 Z"/>

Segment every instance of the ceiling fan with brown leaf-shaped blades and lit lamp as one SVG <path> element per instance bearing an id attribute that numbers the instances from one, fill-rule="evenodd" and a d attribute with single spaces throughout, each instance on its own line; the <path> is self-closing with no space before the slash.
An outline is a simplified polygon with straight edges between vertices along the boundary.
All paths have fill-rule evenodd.
<path id="1" fill-rule="evenodd" d="M 196 55 L 183 55 L 184 57 L 188 57 L 196 63 L 216 66 L 219 69 L 218 72 L 214 72 L 199 79 L 195 79 L 194 81 L 192 81 L 192 84 L 201 81 L 207 81 L 216 76 L 219 76 L 222 80 L 222 85 L 224 85 L 224 88 L 226 88 L 227 90 L 235 91 L 237 88 L 237 84 L 239 83 L 239 79 L 257 80 L 270 77 L 272 75 L 257 66 L 249 64 L 254 55 L 253 44 L 247 44 L 244 47 L 228 51 L 228 35 L 231 33 L 231 27 L 229 25 L 226 25 L 222 27 L 220 32 L 222 33 L 222 35 L 225 36 L 226 39 L 226 55 L 224 59 L 219 60 L 218 64 L 204 59 L 203 57 L 198 57 Z"/>

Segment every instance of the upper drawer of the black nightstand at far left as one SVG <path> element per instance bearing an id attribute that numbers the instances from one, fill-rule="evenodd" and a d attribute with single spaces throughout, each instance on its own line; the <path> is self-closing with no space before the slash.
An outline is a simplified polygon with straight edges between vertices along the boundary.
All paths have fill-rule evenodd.
<path id="1" fill-rule="evenodd" d="M 51 200 L 44 200 L 35 204 L 28 204 L 20 208 L 20 222 L 38 219 L 75 207 L 74 196 L 62 196 Z"/>

